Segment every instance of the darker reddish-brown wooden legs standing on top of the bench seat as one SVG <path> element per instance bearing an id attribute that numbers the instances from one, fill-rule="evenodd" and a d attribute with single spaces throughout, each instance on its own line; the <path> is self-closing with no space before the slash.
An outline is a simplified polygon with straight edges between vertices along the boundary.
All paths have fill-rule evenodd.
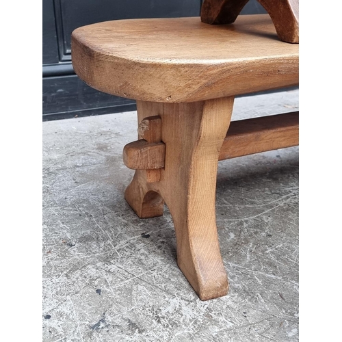
<path id="1" fill-rule="evenodd" d="M 280 40 L 299 42 L 299 0 L 258 0 L 272 18 Z M 200 12 L 203 23 L 234 23 L 248 0 L 204 0 Z"/>

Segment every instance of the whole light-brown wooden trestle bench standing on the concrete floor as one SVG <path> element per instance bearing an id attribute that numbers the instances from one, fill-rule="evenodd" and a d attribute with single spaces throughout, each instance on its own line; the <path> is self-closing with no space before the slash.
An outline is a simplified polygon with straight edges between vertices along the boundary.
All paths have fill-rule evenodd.
<path id="1" fill-rule="evenodd" d="M 280 41 L 268 14 L 231 25 L 135 19 L 76 29 L 72 57 L 89 86 L 137 100 L 138 140 L 123 153 L 136 170 L 127 202 L 153 218 L 165 200 L 179 268 L 201 300 L 226 295 L 218 160 L 298 144 L 298 112 L 231 122 L 234 96 L 298 85 L 298 44 Z"/>

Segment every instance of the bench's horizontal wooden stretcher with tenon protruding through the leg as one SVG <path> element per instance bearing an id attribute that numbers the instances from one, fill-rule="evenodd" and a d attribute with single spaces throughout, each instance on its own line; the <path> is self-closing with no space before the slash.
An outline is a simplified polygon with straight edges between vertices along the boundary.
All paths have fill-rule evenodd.
<path id="1" fill-rule="evenodd" d="M 124 165 L 133 170 L 163 168 L 165 165 L 165 145 L 161 144 L 163 146 L 149 145 L 144 140 L 127 144 L 124 146 Z M 267 150 L 277 150 L 298 144 L 298 111 L 233 121 L 224 138 L 218 160 L 252 155 Z M 148 181 L 148 183 L 151 182 Z"/>

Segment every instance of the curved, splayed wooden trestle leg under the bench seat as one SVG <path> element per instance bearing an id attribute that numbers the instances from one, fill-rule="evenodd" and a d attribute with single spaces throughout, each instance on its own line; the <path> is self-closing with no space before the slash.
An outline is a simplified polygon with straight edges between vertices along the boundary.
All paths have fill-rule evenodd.
<path id="1" fill-rule="evenodd" d="M 125 198 L 140 217 L 146 217 L 147 210 L 150 217 L 154 208 L 159 214 L 161 198 L 166 201 L 176 231 L 177 263 L 201 300 L 228 291 L 215 223 L 215 190 L 232 109 L 233 97 L 175 104 L 137 101 L 139 118 L 161 116 L 166 160 L 158 183 L 147 183 L 144 170 L 137 170 Z"/>

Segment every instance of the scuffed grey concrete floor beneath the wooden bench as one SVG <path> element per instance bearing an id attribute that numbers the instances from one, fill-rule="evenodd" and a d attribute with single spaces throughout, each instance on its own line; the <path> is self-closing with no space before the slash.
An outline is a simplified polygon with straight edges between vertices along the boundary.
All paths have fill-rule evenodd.
<path id="1" fill-rule="evenodd" d="M 298 110 L 298 90 L 235 100 L 233 120 Z M 124 200 L 136 113 L 43 122 L 43 341 L 298 341 L 298 147 L 220 161 L 230 291 L 202 302 L 170 213 Z"/>

